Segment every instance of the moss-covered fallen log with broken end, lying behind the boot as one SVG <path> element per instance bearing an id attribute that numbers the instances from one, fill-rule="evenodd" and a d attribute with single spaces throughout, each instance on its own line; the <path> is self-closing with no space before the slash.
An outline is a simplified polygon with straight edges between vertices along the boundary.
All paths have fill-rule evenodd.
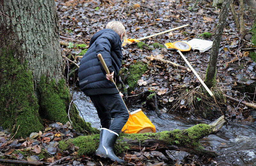
<path id="1" fill-rule="evenodd" d="M 197 124 L 185 130 L 175 129 L 143 134 L 120 133 L 114 151 L 116 154 L 125 153 L 126 151 L 140 152 L 145 147 L 145 151 L 176 150 L 199 156 L 216 157 L 218 154 L 214 151 L 205 150 L 199 140 L 211 134 L 216 134 L 225 122 L 223 115 L 211 124 Z M 59 143 L 61 150 L 66 150 L 72 145 L 79 147 L 78 155 L 92 155 L 99 145 L 99 134 L 80 136 Z"/>

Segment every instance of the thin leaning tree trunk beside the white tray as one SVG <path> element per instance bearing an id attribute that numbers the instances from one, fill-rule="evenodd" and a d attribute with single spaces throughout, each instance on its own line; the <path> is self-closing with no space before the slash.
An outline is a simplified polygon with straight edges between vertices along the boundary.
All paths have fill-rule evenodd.
<path id="1" fill-rule="evenodd" d="M 209 64 L 206 70 L 205 81 L 204 83 L 208 88 L 211 88 L 216 83 L 216 65 L 219 54 L 220 40 L 222 36 L 222 32 L 226 23 L 226 19 L 228 16 L 228 8 L 230 5 L 230 0 L 224 0 L 222 4 L 222 8 L 220 11 L 220 19 L 217 24 L 217 29 L 214 35 L 212 51 L 209 59 Z"/>

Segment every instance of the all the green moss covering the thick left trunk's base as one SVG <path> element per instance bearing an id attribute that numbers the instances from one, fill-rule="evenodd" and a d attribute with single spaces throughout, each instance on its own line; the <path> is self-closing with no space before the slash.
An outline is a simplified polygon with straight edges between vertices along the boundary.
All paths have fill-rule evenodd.
<path id="1" fill-rule="evenodd" d="M 32 72 L 28 62 L 21 63 L 12 51 L 0 50 L 0 126 L 11 129 L 16 138 L 28 137 L 32 132 L 43 130 L 42 118 L 55 122 L 69 121 L 68 109 L 71 102 L 69 88 L 64 79 L 57 84 L 44 75 L 38 86 L 40 98 L 35 95 Z M 99 133 L 85 123 L 74 104 L 70 108 L 70 120 L 76 131 Z"/>

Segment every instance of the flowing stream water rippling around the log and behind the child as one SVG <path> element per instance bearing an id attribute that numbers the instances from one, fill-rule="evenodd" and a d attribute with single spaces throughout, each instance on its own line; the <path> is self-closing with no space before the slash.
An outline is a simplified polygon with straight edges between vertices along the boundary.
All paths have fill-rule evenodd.
<path id="1" fill-rule="evenodd" d="M 76 99 L 74 103 L 81 111 L 86 122 L 90 122 L 92 127 L 99 128 L 100 120 L 97 111 L 83 92 L 76 91 Z M 137 107 L 127 105 L 130 111 L 138 109 Z M 143 110 L 144 114 L 156 126 L 156 132 L 174 129 L 187 129 L 199 123 L 211 123 L 202 119 L 190 118 L 188 115 L 156 115 L 154 111 Z M 220 154 L 215 159 L 219 162 L 226 162 L 233 166 L 254 166 L 256 165 L 256 122 L 248 123 L 230 122 L 228 126 L 224 125 L 221 130 L 214 135 L 201 139 L 200 143 L 211 150 Z M 223 164 L 223 165 L 228 165 Z"/>

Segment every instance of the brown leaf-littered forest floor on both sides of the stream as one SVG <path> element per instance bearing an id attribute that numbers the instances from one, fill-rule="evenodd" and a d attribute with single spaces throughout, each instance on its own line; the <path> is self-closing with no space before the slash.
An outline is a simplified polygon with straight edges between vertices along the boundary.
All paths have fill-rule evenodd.
<path id="1" fill-rule="evenodd" d="M 159 109 L 158 114 L 165 112 L 172 114 L 176 111 L 181 114 L 202 116 L 205 119 L 212 119 L 212 115 L 216 118 L 224 114 L 229 118 L 232 117 L 240 121 L 250 123 L 255 121 L 255 109 L 239 103 L 239 101 L 245 101 L 256 104 L 253 101 L 253 99 L 255 100 L 256 62 L 252 60 L 253 57 L 250 57 L 251 54 L 248 52 L 254 50 L 247 50 L 248 48 L 255 48 L 251 44 L 252 33 L 249 32 L 253 26 L 253 20 L 246 5 L 244 9 L 246 33 L 243 38 L 240 37 L 231 12 L 228 14 L 219 49 L 216 70 L 217 84 L 215 88 L 211 89 L 214 94 L 221 91 L 223 94 L 238 100 L 238 102 L 230 102 L 223 98 L 216 99 L 216 101 L 210 98 L 207 91 L 200 88 L 201 83 L 191 71 L 146 58 L 146 56 L 153 56 L 188 67 L 177 51 L 158 48 L 159 45 L 152 44 L 164 45 L 164 43 L 169 42 L 190 41 L 194 38 L 213 41 L 220 9 L 212 7 L 211 2 L 199 1 L 195 11 L 192 10 L 194 1 L 185 0 L 55 0 L 55 3 L 59 14 L 60 41 L 65 72 L 70 85 L 78 86 L 76 72 L 77 65 L 79 65 L 79 56 L 82 56 L 87 48 L 85 45 L 76 44 L 89 45 L 93 34 L 105 28 L 109 21 L 121 21 L 126 28 L 128 38 L 131 39 L 138 39 L 189 24 L 187 27 L 143 40 L 142 42 L 149 45 L 149 48 L 146 46 L 139 48 L 137 43 L 123 46 L 124 63 L 122 68 L 129 71 L 129 67 L 137 62 L 143 62 L 148 67 L 147 71 L 140 76 L 135 88 L 129 87 L 127 80 L 123 80 L 124 86 L 128 90 L 126 96 L 132 96 L 126 98 L 126 100 L 134 102 L 136 105 L 157 108 Z M 239 6 L 235 4 L 234 8 L 236 14 L 239 15 Z M 202 36 L 204 32 L 209 32 L 211 35 L 206 38 L 206 36 Z M 183 52 L 183 54 L 204 80 L 211 49 L 205 52 L 191 50 Z M 124 75 L 121 74 L 121 76 Z M 239 88 L 240 86 L 243 86 L 243 88 Z M 146 91 L 156 96 L 154 100 L 146 102 L 146 99 L 140 98 L 142 96 L 140 94 L 146 94 Z M 40 161 L 44 162 L 44 165 L 47 165 L 45 163 L 60 161 L 61 157 L 66 156 L 67 153 L 70 156 L 76 156 L 77 147 L 72 146 L 65 152 L 66 154 L 61 154 L 57 147 L 58 141 L 75 138 L 81 134 L 74 131 L 69 124 L 48 122 L 47 120 L 44 121 L 44 124 L 45 130 L 43 132 L 31 133 L 27 139 L 13 141 L 11 145 L 6 146 L 8 148 L 0 151 L 0 156 L 17 159 L 26 158 L 25 161 Z M 10 139 L 9 133 L 8 130 L 3 130 L 0 127 L 0 150 L 3 150 L 5 143 Z M 18 150 L 21 147 L 23 149 L 34 147 L 34 150 L 30 149 L 32 152 Z M 182 155 L 185 157 L 180 158 L 179 161 L 176 160 L 177 158 L 171 160 L 172 155 L 166 158 L 164 154 L 158 152 L 141 152 L 140 154 L 126 155 L 126 157 L 133 158 L 134 163 L 140 166 L 208 166 L 215 163 L 211 158 L 204 158 L 203 156 L 196 158 L 194 155 L 180 154 L 180 156 Z M 66 158 L 65 161 L 56 162 L 55 164 L 94 166 L 116 165 L 117 163 L 94 159 L 92 156 L 76 156 L 75 160 Z M 0 163 L 1 165 L 8 164 Z"/>

